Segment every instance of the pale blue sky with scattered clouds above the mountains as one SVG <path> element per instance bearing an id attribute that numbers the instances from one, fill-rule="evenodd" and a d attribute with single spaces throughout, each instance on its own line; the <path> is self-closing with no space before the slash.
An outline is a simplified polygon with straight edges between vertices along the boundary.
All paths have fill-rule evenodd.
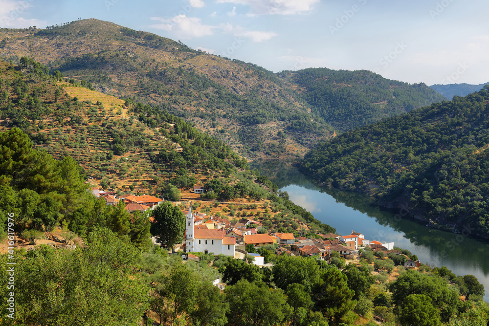
<path id="1" fill-rule="evenodd" d="M 96 18 L 273 72 L 377 72 L 408 83 L 489 82 L 487 0 L 0 0 L 0 27 Z"/>

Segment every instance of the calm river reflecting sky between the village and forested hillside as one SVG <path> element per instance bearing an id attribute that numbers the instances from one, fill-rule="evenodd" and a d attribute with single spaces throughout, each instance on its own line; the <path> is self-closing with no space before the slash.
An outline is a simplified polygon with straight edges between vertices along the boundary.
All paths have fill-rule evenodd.
<path id="1" fill-rule="evenodd" d="M 354 230 L 365 235 L 365 239 L 394 241 L 396 246 L 416 254 L 422 263 L 446 266 L 456 275 L 474 275 L 484 284 L 484 300 L 489 302 L 487 242 L 430 229 L 417 220 L 400 219 L 395 215 L 397 212 L 375 205 L 363 194 L 318 188 L 291 168 L 276 169 L 271 175 L 280 190 L 289 193 L 290 200 L 336 228 L 337 234 L 349 235 Z"/>

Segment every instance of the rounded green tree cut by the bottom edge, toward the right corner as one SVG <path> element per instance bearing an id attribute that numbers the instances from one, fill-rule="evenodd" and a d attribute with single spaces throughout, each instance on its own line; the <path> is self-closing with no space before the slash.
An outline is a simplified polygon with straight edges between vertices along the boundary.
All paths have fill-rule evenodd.
<path id="1" fill-rule="evenodd" d="M 424 294 L 410 294 L 402 302 L 399 319 L 402 326 L 439 326 L 440 312 Z"/>

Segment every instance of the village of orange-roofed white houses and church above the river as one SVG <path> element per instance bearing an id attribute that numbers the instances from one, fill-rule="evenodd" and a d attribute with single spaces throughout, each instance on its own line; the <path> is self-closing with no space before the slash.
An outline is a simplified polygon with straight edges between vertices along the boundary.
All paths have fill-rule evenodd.
<path id="1" fill-rule="evenodd" d="M 199 193 L 199 187 L 195 188 L 195 193 Z M 129 213 L 136 210 L 141 213 L 150 211 L 164 201 L 149 195 L 117 196 L 115 192 L 101 191 L 96 187 L 92 187 L 91 192 L 94 196 L 103 198 L 107 205 L 116 205 L 119 201 L 123 201 Z M 185 258 L 190 260 L 198 260 L 198 257 L 192 254 L 197 252 L 216 256 L 222 254 L 235 259 L 245 259 L 246 255 L 251 255 L 254 258 L 254 264 L 266 265 L 264 257 L 246 251 L 246 248 L 250 246 L 254 249 L 273 248 L 274 254 L 277 255 L 314 257 L 324 261 L 331 260 L 333 252 L 336 252 L 341 258 L 355 260 L 358 258 L 359 250 L 369 248 L 375 254 L 383 253 L 383 256 L 390 253 L 404 256 L 404 267 L 406 268 L 421 266 L 419 260 L 412 260 L 403 255 L 400 250 L 395 249 L 394 242 L 365 239 L 362 233 L 354 230 L 349 235 L 319 233 L 315 237 L 308 238 L 293 233 L 268 233 L 262 229 L 263 224 L 254 219 L 241 218 L 231 222 L 227 218 L 194 213 L 190 204 L 188 210 L 182 212 L 185 215 L 184 241 L 177 244 L 174 250 L 181 251 L 185 254 Z M 154 244 L 158 243 L 155 237 L 152 240 Z"/>

